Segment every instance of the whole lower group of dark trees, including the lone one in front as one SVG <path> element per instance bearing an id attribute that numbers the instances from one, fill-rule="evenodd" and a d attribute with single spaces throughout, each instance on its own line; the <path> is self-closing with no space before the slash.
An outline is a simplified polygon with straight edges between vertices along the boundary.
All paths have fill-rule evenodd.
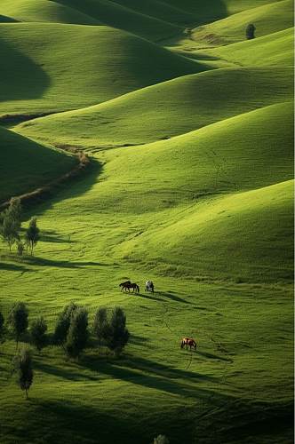
<path id="1" fill-rule="evenodd" d="M 52 340 L 47 335 L 47 324 L 41 316 L 33 321 L 28 330 L 28 307 L 23 302 L 12 306 L 7 321 L 0 312 L 0 342 L 3 343 L 8 332 L 15 341 L 17 354 L 13 359 L 13 370 L 18 373 L 20 389 L 26 392 L 33 383 L 32 353 L 28 347 L 19 351 L 20 339 L 29 334 L 29 342 L 40 352 L 45 345 L 61 345 L 68 358 L 78 359 L 89 344 L 91 332 L 88 325 L 88 312 L 81 306 L 71 303 L 60 313 L 55 325 Z M 106 345 L 116 356 L 120 355 L 128 343 L 130 333 L 126 328 L 126 316 L 122 308 L 115 307 L 110 313 L 107 308 L 97 310 L 94 316 L 92 332 L 99 346 Z"/>

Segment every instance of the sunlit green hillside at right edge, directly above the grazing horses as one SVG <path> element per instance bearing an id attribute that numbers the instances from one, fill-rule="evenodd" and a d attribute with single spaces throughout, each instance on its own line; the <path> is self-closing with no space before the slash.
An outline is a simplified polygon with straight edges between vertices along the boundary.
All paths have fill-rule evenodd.
<path id="1" fill-rule="evenodd" d="M 168 274 L 291 281 L 293 186 L 288 181 L 196 204 L 121 251 L 144 266 L 148 259 L 163 263 Z"/>

